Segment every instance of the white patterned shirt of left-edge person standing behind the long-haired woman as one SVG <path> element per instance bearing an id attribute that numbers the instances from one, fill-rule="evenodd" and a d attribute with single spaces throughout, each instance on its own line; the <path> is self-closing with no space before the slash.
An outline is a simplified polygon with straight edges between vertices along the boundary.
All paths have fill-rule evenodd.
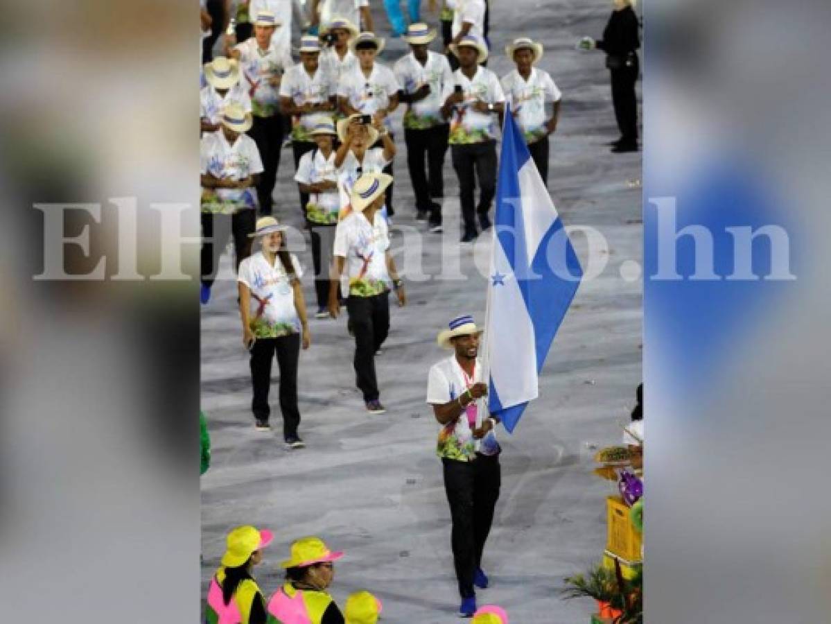
<path id="1" fill-rule="evenodd" d="M 219 179 L 246 179 L 263 172 L 257 144 L 248 135 L 239 135 L 230 145 L 222 130 L 209 132 L 199 143 L 199 173 Z M 257 208 L 257 191 L 247 189 L 202 189 L 202 212 L 234 214 L 239 209 Z"/>

